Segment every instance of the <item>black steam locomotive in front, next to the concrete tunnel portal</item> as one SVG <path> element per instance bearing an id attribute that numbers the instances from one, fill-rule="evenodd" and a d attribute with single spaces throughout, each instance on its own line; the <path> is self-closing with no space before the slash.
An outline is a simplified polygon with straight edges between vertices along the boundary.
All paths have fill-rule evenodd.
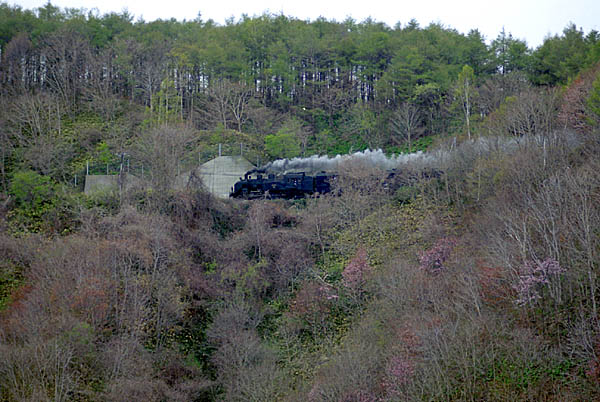
<path id="1" fill-rule="evenodd" d="M 235 183 L 229 197 L 255 198 L 285 198 L 295 199 L 310 195 L 331 192 L 331 182 L 335 175 L 326 172 L 314 176 L 305 172 L 286 173 L 283 175 L 266 174 L 265 171 L 251 170 L 244 178 Z"/>

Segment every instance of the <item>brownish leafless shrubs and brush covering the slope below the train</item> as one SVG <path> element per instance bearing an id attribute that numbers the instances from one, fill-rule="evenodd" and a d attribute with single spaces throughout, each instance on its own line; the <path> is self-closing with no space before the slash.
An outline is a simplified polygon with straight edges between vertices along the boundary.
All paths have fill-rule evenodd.
<path id="1" fill-rule="evenodd" d="M 598 134 L 498 144 L 451 150 L 401 195 L 349 165 L 302 202 L 165 190 L 84 208 L 67 236 L 3 226 L 3 272 L 22 279 L 0 395 L 598 397 Z"/>

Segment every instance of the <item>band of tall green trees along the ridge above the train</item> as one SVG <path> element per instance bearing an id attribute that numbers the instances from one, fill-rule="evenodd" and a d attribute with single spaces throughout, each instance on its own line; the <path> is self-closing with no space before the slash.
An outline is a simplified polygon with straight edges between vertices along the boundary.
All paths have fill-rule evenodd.
<path id="1" fill-rule="evenodd" d="M 69 120 L 87 110 L 126 134 L 130 128 L 118 120 L 133 104 L 147 108 L 155 124 L 180 121 L 258 136 L 256 144 L 230 140 L 271 156 L 281 152 L 265 150 L 263 137 L 290 119 L 291 149 L 312 153 L 393 148 L 407 135 L 457 131 L 470 115 L 498 106 L 465 93 L 465 66 L 470 88 L 504 87 L 498 77 L 518 73 L 536 85 L 556 85 L 600 58 L 597 32 L 584 35 L 575 25 L 535 50 L 504 31 L 487 45 L 477 30 L 464 35 L 416 21 L 390 28 L 370 19 L 264 14 L 223 26 L 200 17 L 133 22 L 126 12 L 61 11 L 50 3 L 35 11 L 2 3 L 0 26 L 3 92 L 42 109 L 38 121 L 13 122 L 29 126 L 21 131 L 60 133 L 70 122 L 48 127 L 49 118 Z M 271 148 L 274 140 L 289 142 L 271 137 Z"/>

